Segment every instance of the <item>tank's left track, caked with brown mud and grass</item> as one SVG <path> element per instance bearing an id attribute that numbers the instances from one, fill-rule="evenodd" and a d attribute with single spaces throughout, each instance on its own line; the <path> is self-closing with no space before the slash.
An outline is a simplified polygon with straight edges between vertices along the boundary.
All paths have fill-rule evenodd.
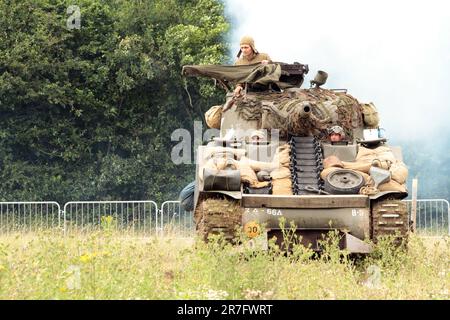
<path id="1" fill-rule="evenodd" d="M 210 234 L 223 233 L 225 239 L 231 242 L 236 226 L 242 223 L 242 212 L 238 200 L 226 197 L 199 199 L 194 213 L 197 233 L 205 241 Z"/>

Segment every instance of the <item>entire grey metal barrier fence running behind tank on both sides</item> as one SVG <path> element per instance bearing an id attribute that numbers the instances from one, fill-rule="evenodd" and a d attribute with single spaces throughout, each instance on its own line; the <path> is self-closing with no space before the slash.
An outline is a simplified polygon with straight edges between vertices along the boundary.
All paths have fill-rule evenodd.
<path id="1" fill-rule="evenodd" d="M 411 200 L 404 200 L 411 210 Z M 179 201 L 0 202 L 0 234 L 52 230 L 68 234 L 120 230 L 130 235 L 191 237 L 193 213 Z M 417 200 L 416 231 L 421 235 L 450 235 L 450 205 L 445 199 Z"/>

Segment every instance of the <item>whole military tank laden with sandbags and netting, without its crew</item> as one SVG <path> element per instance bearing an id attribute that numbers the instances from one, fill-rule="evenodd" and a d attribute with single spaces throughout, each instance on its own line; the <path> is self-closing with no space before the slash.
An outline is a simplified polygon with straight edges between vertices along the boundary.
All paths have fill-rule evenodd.
<path id="1" fill-rule="evenodd" d="M 203 239 L 221 233 L 233 241 L 243 228 L 253 243 L 282 244 L 282 220 L 317 251 L 331 230 L 352 253 L 369 253 L 367 239 L 407 237 L 401 148 L 381 134 L 372 103 L 324 89 L 325 72 L 302 89 L 308 72 L 297 62 L 183 67 L 227 91 L 206 114 L 217 136 L 197 150 L 193 209 Z M 245 84 L 240 96 L 231 92 L 236 83 Z"/>

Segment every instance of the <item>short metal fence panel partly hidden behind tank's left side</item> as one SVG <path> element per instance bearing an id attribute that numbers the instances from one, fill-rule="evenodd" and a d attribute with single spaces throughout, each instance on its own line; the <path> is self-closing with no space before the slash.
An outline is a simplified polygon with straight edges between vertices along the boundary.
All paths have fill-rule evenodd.
<path id="1" fill-rule="evenodd" d="M 161 205 L 161 236 L 192 237 L 195 233 L 194 217 L 185 211 L 180 201 L 166 201 Z"/>

